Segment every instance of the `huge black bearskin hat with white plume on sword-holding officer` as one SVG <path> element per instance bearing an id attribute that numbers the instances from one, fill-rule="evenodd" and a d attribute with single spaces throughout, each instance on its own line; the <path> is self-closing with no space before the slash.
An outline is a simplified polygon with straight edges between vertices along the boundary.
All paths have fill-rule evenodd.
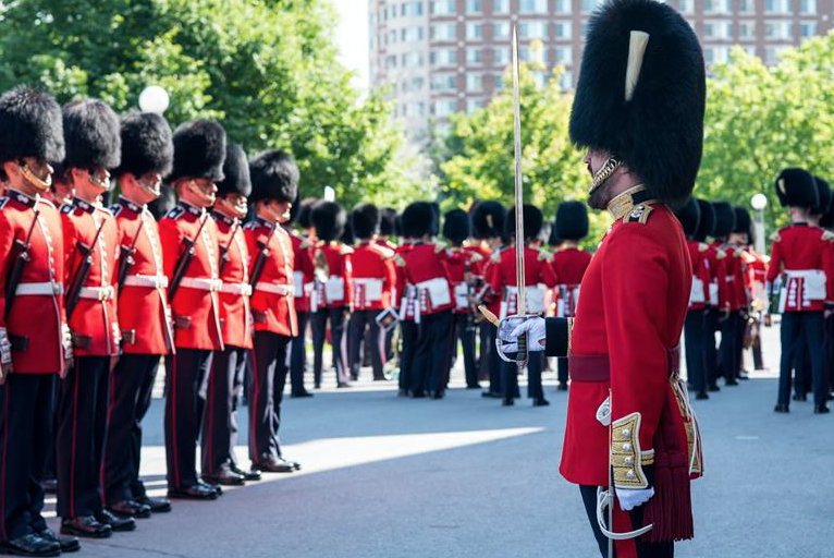
<path id="1" fill-rule="evenodd" d="M 571 138 L 618 157 L 673 209 L 686 203 L 698 174 L 704 99 L 698 37 L 673 8 L 613 0 L 591 16 Z"/>

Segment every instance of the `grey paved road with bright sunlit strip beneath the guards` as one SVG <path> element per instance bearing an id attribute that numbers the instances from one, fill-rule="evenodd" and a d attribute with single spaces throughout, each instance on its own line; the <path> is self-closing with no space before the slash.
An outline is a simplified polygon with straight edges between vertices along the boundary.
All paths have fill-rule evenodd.
<path id="1" fill-rule="evenodd" d="M 694 486 L 697 538 L 677 556 L 832 556 L 834 414 L 774 414 L 769 376 L 697 402 L 708 469 Z M 543 409 L 465 389 L 404 400 L 371 383 L 291 399 L 285 453 L 302 473 L 176 502 L 79 556 L 594 557 L 578 490 L 556 474 L 566 396 L 549 386 Z M 161 424 L 155 401 L 144 474 L 159 494 Z"/>

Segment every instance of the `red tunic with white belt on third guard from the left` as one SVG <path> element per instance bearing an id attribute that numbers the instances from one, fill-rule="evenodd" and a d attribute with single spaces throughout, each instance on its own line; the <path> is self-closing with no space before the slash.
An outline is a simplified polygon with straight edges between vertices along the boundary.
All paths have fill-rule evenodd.
<path id="1" fill-rule="evenodd" d="M 119 291 L 122 351 L 128 354 L 165 354 L 173 349 L 174 338 L 159 226 L 146 207 L 124 198 L 120 198 L 110 210 L 119 227 L 120 246 L 127 251 L 133 248 L 133 264 Z"/>

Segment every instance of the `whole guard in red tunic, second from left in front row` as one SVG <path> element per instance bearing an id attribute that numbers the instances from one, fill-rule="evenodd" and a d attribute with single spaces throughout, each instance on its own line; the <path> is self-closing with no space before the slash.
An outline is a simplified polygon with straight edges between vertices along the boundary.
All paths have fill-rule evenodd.
<path id="1" fill-rule="evenodd" d="M 116 364 L 121 330 L 116 316 L 119 227 L 99 203 L 110 190 L 108 169 L 119 167 L 119 118 L 96 99 L 63 108 L 66 158 L 63 177 L 75 191 L 61 206 L 66 320 L 75 365 L 58 390 L 58 515 L 66 535 L 107 537 L 133 531 L 133 518 L 102 507 L 101 466 L 108 420 L 110 372 Z"/>

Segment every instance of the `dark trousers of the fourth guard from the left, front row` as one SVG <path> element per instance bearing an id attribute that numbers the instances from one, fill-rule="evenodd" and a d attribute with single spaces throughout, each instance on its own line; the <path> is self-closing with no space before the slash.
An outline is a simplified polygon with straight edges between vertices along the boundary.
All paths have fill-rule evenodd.
<path id="1" fill-rule="evenodd" d="M 197 484 L 197 436 L 203 421 L 200 387 L 209 373 L 212 351 L 176 349 L 165 360 L 165 460 L 168 487 Z"/>

